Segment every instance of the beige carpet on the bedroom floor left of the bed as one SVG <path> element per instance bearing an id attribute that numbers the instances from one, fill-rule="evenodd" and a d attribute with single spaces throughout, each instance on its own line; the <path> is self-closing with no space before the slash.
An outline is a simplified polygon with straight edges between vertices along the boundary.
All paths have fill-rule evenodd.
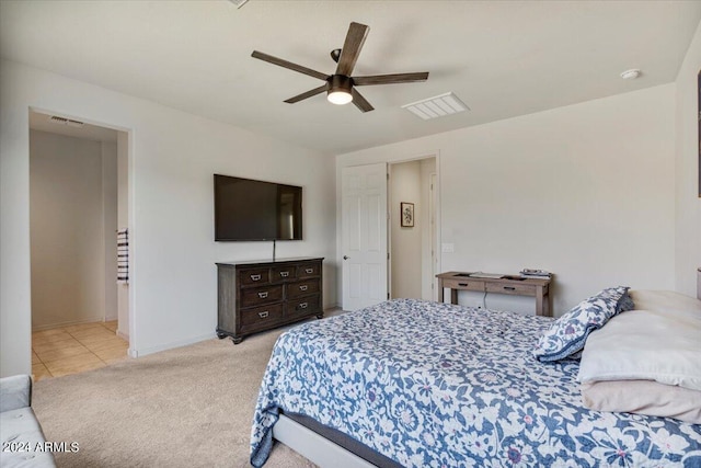
<path id="1" fill-rule="evenodd" d="M 33 408 L 59 467 L 248 467 L 253 409 L 280 331 L 209 340 L 39 380 Z M 276 444 L 265 465 L 313 467 Z"/>

